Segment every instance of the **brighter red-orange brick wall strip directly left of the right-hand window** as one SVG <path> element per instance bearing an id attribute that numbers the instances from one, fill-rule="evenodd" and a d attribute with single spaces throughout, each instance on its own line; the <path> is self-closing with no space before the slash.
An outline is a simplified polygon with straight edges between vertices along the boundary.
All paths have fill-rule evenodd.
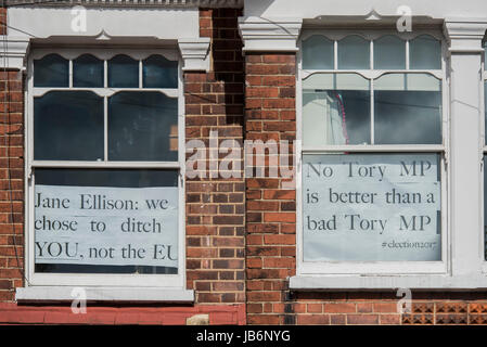
<path id="1" fill-rule="evenodd" d="M 295 55 L 247 53 L 245 63 L 246 140 L 294 140 Z M 294 323 L 286 278 L 296 264 L 295 197 L 283 179 L 246 178 L 249 324 Z"/>

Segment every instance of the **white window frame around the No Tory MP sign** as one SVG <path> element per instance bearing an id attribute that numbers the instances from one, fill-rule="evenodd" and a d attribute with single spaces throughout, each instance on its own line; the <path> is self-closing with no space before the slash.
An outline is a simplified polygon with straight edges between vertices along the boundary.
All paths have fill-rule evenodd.
<path id="1" fill-rule="evenodd" d="M 303 41 L 313 35 L 321 35 L 331 40 L 334 46 L 334 69 L 313 69 L 305 70 L 303 68 Z M 338 69 L 338 52 L 337 42 L 347 36 L 360 36 L 370 43 L 370 69 Z M 406 69 L 373 69 L 374 50 L 373 41 L 384 36 L 395 36 L 406 41 Z M 428 35 L 439 40 L 441 47 L 441 69 L 409 69 L 409 41 L 422 36 Z M 449 79 L 447 75 L 447 52 L 445 37 L 439 30 L 414 30 L 413 33 L 397 33 L 395 30 L 339 30 L 339 29 L 303 29 L 298 39 L 298 51 L 296 55 L 297 73 L 296 73 L 296 140 L 297 140 L 297 172 L 296 179 L 298 184 L 296 188 L 296 275 L 374 275 L 374 274 L 447 274 L 451 269 L 451 234 L 449 216 L 450 192 L 449 192 L 449 166 L 448 157 L 450 152 L 450 105 L 449 105 Z M 387 144 L 376 145 L 371 139 L 371 144 L 359 145 L 322 145 L 317 147 L 304 147 L 303 145 L 303 79 L 313 73 L 330 74 L 358 74 L 369 81 L 376 79 L 385 74 L 402 73 L 402 74 L 428 74 L 440 79 L 441 82 L 441 138 L 443 144 L 433 145 L 402 145 Z M 373 83 L 371 82 L 370 92 L 373 93 Z M 373 112 L 373 100 L 371 99 L 371 112 Z M 373 127 L 373 114 L 371 114 L 371 127 Z M 440 261 L 304 261 L 303 249 L 303 156 L 305 154 L 324 154 L 348 152 L 351 154 L 360 153 L 438 153 L 440 154 L 440 192 L 441 192 L 441 260 Z"/>

